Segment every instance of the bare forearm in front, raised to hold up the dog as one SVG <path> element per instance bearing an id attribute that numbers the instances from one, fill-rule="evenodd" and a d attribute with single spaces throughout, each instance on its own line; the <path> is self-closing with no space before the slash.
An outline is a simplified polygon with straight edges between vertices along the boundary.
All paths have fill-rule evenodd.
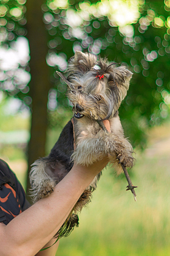
<path id="1" fill-rule="evenodd" d="M 10 255 L 35 255 L 60 229 L 84 189 L 106 163 L 103 160 L 88 168 L 74 165 L 49 197 L 4 226 L 1 243 L 6 250 L 13 247 Z"/>

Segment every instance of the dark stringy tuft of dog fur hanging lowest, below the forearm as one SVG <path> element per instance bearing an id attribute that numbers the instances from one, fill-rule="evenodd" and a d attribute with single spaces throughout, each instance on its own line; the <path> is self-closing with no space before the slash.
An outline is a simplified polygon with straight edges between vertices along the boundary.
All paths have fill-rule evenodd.
<path id="1" fill-rule="evenodd" d="M 78 215 L 71 213 L 71 216 L 66 219 L 63 226 L 60 227 L 58 232 L 55 234 L 55 238 L 61 238 L 63 236 L 68 236 L 73 231 L 75 227 L 78 227 L 79 224 Z"/>

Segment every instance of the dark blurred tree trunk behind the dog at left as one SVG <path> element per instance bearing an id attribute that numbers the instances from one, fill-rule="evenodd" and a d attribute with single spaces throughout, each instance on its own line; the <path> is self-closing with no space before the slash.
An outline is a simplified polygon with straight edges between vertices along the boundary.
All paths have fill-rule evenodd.
<path id="1" fill-rule="evenodd" d="M 28 178 L 27 193 L 29 193 L 30 165 L 39 157 L 45 155 L 47 131 L 47 98 L 50 88 L 49 68 L 46 63 L 47 30 L 42 21 L 42 0 L 29 0 L 27 7 L 27 38 L 30 45 L 30 96 L 32 97 L 32 123 L 28 146 Z"/>

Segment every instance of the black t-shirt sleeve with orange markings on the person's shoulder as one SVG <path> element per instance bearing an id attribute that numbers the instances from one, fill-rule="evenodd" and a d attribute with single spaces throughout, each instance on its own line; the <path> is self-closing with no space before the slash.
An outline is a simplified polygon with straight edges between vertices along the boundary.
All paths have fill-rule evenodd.
<path id="1" fill-rule="evenodd" d="M 21 183 L 7 163 L 0 159 L 0 222 L 7 225 L 29 207 Z"/>

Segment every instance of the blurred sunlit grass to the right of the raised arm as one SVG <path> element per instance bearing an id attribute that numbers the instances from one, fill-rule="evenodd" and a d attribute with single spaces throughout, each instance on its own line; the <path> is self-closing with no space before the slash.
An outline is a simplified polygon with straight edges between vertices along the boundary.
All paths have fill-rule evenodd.
<path id="1" fill-rule="evenodd" d="M 137 154 L 130 172 L 137 202 L 126 192 L 123 174 L 104 170 L 92 202 L 80 214 L 80 227 L 61 239 L 56 255 L 170 255 L 169 165 L 168 153 Z"/>

